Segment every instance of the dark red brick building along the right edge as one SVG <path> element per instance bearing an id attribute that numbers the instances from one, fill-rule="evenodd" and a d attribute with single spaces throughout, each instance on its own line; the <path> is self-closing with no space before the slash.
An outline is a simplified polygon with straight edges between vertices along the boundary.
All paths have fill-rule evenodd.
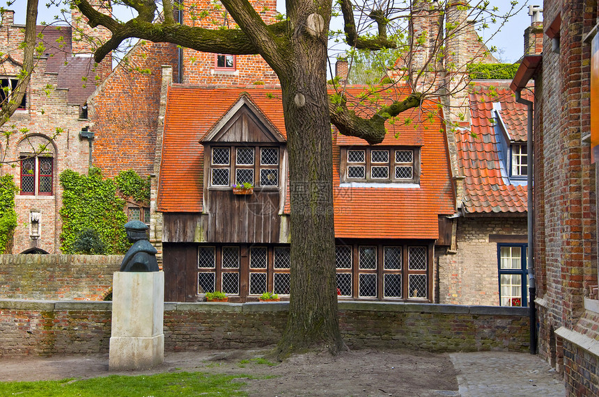
<path id="1" fill-rule="evenodd" d="M 534 260 L 538 353 L 570 396 L 599 394 L 596 164 L 591 163 L 591 41 L 596 1 L 545 0 L 543 55 L 524 58 L 513 89 L 534 79 Z"/>

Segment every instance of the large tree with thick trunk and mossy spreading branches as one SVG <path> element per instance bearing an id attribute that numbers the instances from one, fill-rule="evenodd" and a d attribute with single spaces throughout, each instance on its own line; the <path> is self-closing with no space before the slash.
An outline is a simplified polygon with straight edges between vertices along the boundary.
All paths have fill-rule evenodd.
<path id="1" fill-rule="evenodd" d="M 368 143 L 380 143 L 389 118 L 421 106 L 426 97 L 449 97 L 463 90 L 467 73 L 461 63 L 488 52 L 481 47 L 470 60 L 454 59 L 447 40 L 470 33 L 467 16 L 485 24 L 485 15 L 496 17 L 497 10 L 488 7 L 489 1 L 469 5 L 456 0 L 360 4 L 339 0 L 334 7 L 330 0 L 288 0 L 286 16 L 267 25 L 248 0 L 221 0 L 235 26 L 212 30 L 178 24 L 173 11 L 182 5 L 171 0 L 162 0 L 158 18 L 157 1 L 122 1 L 137 12 L 127 22 L 98 12 L 87 0 L 75 0 L 90 26 L 111 32 L 111 38 L 95 51 L 96 62 L 124 40 L 140 38 L 219 54 L 260 54 L 277 73 L 288 137 L 293 241 L 289 321 L 277 355 L 315 348 L 332 353 L 345 350 L 336 303 L 330 126 Z M 367 117 L 357 115 L 343 86 L 334 85 L 335 95 L 327 92 L 329 23 L 336 9 L 343 16 L 339 33 L 350 47 L 350 56 L 355 51 L 396 51 L 393 79 L 396 86 L 408 90 Z M 419 29 L 420 24 L 428 28 Z"/>

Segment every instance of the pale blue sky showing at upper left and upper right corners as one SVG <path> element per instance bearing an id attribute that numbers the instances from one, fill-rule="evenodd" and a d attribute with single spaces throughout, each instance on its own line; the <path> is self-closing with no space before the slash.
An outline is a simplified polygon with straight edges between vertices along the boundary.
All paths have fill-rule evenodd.
<path id="1" fill-rule="evenodd" d="M 279 0 L 282 1 L 282 0 Z M 508 0 L 492 0 L 492 4 L 497 5 L 500 10 L 507 10 L 508 4 L 510 1 Z M 518 1 L 520 7 L 522 4 L 526 5 L 527 3 L 538 3 L 542 4 L 541 0 L 520 0 Z M 52 21 L 54 15 L 57 13 L 57 9 L 48 10 L 44 5 L 45 1 L 40 1 L 40 10 L 38 15 L 38 22 L 49 22 Z M 25 23 L 25 7 L 26 0 L 16 0 L 11 6 L 6 6 L 10 10 L 15 10 L 15 23 L 24 24 Z M 280 7 L 278 7 L 280 8 Z M 284 10 L 283 10 L 284 11 Z M 492 39 L 492 45 L 495 45 L 500 50 L 499 57 L 505 62 L 516 62 L 520 57 L 522 57 L 522 53 L 524 52 L 524 29 L 530 25 L 530 17 L 528 15 L 528 7 L 525 6 L 522 8 L 518 15 L 511 18 L 507 24 L 495 35 Z M 497 28 L 491 27 L 487 32 L 482 32 L 483 38 L 487 38 L 487 35 L 490 35 L 492 32 L 497 30 Z"/>

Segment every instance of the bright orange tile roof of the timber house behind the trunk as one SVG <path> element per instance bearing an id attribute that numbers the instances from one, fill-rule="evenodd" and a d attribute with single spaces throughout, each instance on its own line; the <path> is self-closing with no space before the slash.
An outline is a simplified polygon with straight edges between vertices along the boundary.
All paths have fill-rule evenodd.
<path id="1" fill-rule="evenodd" d="M 268 88 L 201 88 L 173 85 L 164 121 L 158 209 L 163 212 L 202 211 L 203 146 L 199 140 L 247 92 L 272 124 L 286 135 L 280 90 Z M 431 105 L 432 106 L 432 105 Z M 430 107 L 431 109 L 434 107 Z M 408 112 L 400 120 L 412 117 Z M 426 128 L 396 123 L 382 145 L 421 146 L 419 188 L 339 187 L 339 146 L 355 138 L 334 133 L 335 234 L 338 238 L 437 238 L 439 214 L 454 212 L 446 138 L 438 118 Z M 395 138 L 395 133 L 398 138 Z M 389 138 L 389 136 L 391 136 Z M 361 140 L 358 145 L 363 145 Z M 289 188 L 287 186 L 287 197 Z M 284 211 L 290 210 L 287 200 Z"/>

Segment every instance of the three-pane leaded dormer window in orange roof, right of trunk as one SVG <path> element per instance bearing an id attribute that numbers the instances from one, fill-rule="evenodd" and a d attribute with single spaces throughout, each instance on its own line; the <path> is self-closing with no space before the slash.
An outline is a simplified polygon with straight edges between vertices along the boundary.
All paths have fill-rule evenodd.
<path id="1" fill-rule="evenodd" d="M 364 147 L 341 149 L 341 181 L 418 183 L 419 149 Z"/>

